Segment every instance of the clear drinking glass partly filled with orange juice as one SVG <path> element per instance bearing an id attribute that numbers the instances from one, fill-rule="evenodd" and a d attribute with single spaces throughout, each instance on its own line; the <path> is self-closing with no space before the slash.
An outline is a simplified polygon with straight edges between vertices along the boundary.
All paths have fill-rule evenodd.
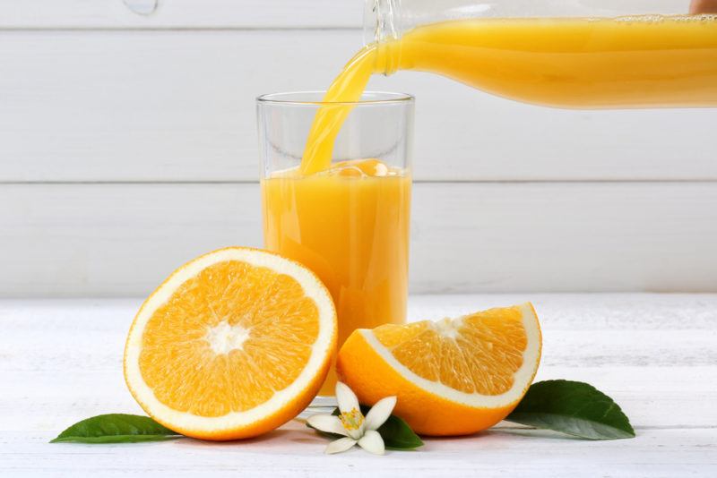
<path id="1" fill-rule="evenodd" d="M 406 318 L 414 99 L 371 91 L 356 102 L 322 98 L 324 91 L 257 98 L 263 237 L 266 249 L 298 260 L 328 287 L 341 347 L 354 329 Z M 344 121 L 335 138 L 308 139 L 320 110 L 324 121 Z M 332 152 L 330 164 L 305 174 L 307 141 L 328 142 Z M 333 396 L 335 383 L 332 370 L 320 395 Z"/>

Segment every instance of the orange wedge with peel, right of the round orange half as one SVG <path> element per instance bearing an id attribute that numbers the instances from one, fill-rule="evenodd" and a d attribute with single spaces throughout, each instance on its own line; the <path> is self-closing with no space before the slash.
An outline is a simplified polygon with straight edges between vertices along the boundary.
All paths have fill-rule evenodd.
<path id="1" fill-rule="evenodd" d="M 466 435 L 518 405 L 540 363 L 530 303 L 457 319 L 358 329 L 336 370 L 365 405 L 398 397 L 393 413 L 424 435 Z"/>

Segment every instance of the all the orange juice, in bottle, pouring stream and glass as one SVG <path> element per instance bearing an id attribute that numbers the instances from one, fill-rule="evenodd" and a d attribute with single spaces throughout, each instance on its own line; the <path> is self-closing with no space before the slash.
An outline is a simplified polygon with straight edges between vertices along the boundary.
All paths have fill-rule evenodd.
<path id="1" fill-rule="evenodd" d="M 361 49 L 327 90 L 334 104 L 316 113 L 298 170 L 263 181 L 266 245 L 329 286 L 340 346 L 352 329 L 403 319 L 410 179 L 332 165 L 351 112 L 341 102 L 398 70 L 549 107 L 717 106 L 717 16 L 443 21 Z"/>

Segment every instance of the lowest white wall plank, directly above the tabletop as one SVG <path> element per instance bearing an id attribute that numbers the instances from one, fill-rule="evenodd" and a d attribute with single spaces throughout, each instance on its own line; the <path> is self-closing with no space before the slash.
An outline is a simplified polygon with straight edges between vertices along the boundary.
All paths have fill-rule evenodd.
<path id="1" fill-rule="evenodd" d="M 4 296 L 146 295 L 262 240 L 256 184 L 5 184 L 0 204 Z M 412 219 L 414 293 L 717 284 L 717 184 L 415 184 Z"/>

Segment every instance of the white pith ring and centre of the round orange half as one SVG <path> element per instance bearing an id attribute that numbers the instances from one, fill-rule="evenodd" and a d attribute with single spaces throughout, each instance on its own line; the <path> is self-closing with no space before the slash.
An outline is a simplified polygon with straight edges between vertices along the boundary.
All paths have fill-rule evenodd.
<path id="1" fill-rule="evenodd" d="M 316 303 L 316 307 L 319 311 L 318 337 L 316 337 L 316 341 L 312 346 L 312 352 L 307 365 L 298 375 L 297 380 L 291 383 L 289 387 L 277 391 L 263 404 L 257 405 L 244 412 L 231 412 L 217 417 L 200 416 L 177 411 L 162 404 L 143 380 L 139 366 L 139 357 L 142 351 L 144 327 L 152 314 L 163 303 L 167 302 L 169 297 L 177 290 L 178 286 L 181 286 L 186 280 L 195 277 L 200 271 L 212 266 L 212 264 L 228 260 L 240 260 L 256 267 L 265 267 L 275 270 L 276 272 L 286 274 L 296 279 L 303 287 L 304 294 Z M 298 265 L 298 263 L 283 259 L 275 254 L 252 249 L 229 248 L 212 252 L 186 264 L 183 269 L 178 270 L 143 304 L 130 330 L 130 335 L 127 338 L 125 350 L 126 379 L 129 386 L 134 390 L 135 396 L 142 403 L 148 414 L 160 418 L 160 420 L 165 423 L 170 423 L 177 427 L 177 429 L 203 432 L 235 430 L 278 412 L 291 402 L 294 397 L 297 397 L 302 390 L 307 388 L 311 380 L 314 379 L 316 372 L 326 360 L 326 357 L 333 353 L 331 345 L 333 335 L 336 332 L 336 323 L 335 320 L 333 320 L 334 313 L 333 302 L 325 287 L 311 272 Z M 216 332 L 216 338 L 218 340 L 217 346 L 220 348 L 223 346 L 237 345 L 238 342 L 242 340 L 241 330 L 238 329 L 233 332 L 229 329 L 224 329 L 223 331 L 220 329 Z M 223 332 L 228 333 L 226 343 L 222 343 L 222 339 L 224 338 L 222 335 Z M 232 335 L 232 333 L 234 335 Z"/>

